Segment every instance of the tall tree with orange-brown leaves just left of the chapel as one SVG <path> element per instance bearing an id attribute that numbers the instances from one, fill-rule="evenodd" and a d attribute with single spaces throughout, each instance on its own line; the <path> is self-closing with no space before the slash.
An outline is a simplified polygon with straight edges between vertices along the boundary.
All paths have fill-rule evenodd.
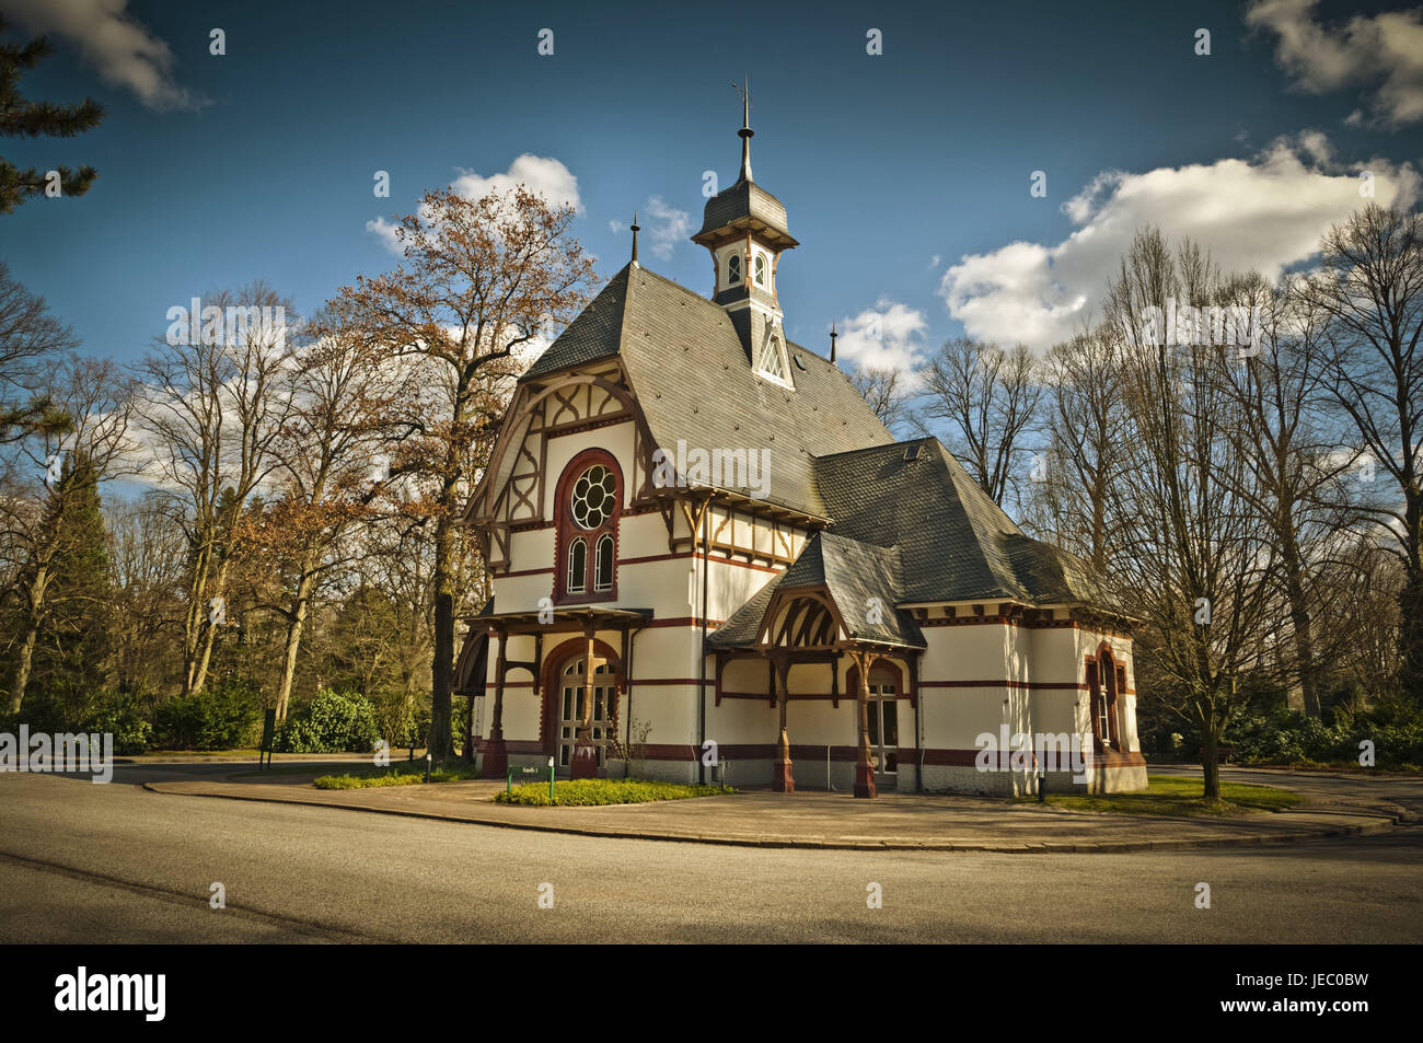
<path id="1" fill-rule="evenodd" d="M 515 350 L 586 302 L 593 266 L 572 219 L 572 208 L 524 186 L 481 199 L 427 192 L 397 228 L 404 263 L 342 290 L 364 334 L 423 367 L 430 388 L 394 470 L 425 478 L 407 509 L 434 529 L 430 747 L 440 760 L 451 751 L 458 512 L 504 415 Z"/>

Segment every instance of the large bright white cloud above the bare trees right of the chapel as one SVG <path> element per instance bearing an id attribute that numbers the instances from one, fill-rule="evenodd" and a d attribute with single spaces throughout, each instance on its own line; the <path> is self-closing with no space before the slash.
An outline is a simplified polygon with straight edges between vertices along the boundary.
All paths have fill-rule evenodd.
<path id="1" fill-rule="evenodd" d="M 1281 138 L 1252 159 L 1106 171 L 1063 212 L 1079 228 L 1057 245 L 1009 243 L 965 256 L 939 283 L 949 314 L 969 336 L 1046 349 L 1100 319 L 1103 286 L 1140 228 L 1190 238 L 1224 270 L 1274 279 L 1312 256 L 1319 236 L 1366 201 L 1359 171 L 1373 172 L 1375 202 L 1410 205 L 1419 172 L 1373 159 L 1343 168 L 1325 135 Z"/>

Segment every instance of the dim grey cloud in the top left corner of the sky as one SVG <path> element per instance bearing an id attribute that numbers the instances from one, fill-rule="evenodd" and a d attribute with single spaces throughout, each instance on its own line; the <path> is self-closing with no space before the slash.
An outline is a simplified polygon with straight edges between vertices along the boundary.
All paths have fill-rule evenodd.
<path id="1" fill-rule="evenodd" d="M 0 6 L 26 28 L 73 43 L 107 83 L 127 87 L 148 108 L 206 104 L 174 81 L 168 44 L 128 14 L 127 4 L 128 0 L 4 0 Z M 203 40 L 202 54 L 206 53 Z"/>

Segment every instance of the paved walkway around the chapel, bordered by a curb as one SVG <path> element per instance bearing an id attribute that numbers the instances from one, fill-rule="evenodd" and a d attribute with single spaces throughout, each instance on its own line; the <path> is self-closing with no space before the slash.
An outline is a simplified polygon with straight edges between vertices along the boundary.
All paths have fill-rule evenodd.
<path id="1" fill-rule="evenodd" d="M 589 837 L 700 841 L 746 847 L 1091 852 L 1279 844 L 1382 832 L 1412 821 L 1390 801 L 1358 800 L 1241 818 L 1165 818 L 1063 811 L 952 795 L 750 791 L 726 797 L 592 808 L 495 804 L 502 781 L 314 790 L 309 775 L 148 781 L 154 793 L 314 804 Z M 1279 780 L 1288 788 L 1288 780 Z"/>

